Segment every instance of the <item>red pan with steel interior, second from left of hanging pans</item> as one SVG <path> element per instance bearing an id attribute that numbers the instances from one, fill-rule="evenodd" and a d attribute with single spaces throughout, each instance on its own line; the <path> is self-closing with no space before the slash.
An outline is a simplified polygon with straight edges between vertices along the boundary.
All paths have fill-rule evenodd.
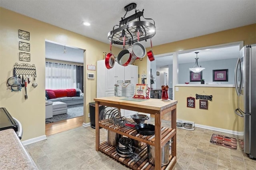
<path id="1" fill-rule="evenodd" d="M 132 53 L 128 49 L 125 49 L 124 45 L 125 45 L 125 36 L 123 41 L 123 50 L 120 51 L 120 53 L 118 54 L 117 62 L 122 66 L 127 66 L 130 64 L 132 60 Z"/>

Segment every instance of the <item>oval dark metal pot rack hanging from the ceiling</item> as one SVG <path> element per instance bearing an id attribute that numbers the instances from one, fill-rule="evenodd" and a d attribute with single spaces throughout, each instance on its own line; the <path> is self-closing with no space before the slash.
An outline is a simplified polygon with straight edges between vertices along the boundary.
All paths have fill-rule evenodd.
<path id="1" fill-rule="evenodd" d="M 125 44 L 129 44 L 129 39 L 132 43 L 138 42 L 137 36 L 134 36 L 133 34 L 137 31 L 136 29 L 138 28 L 141 30 L 141 32 L 143 32 L 143 34 L 140 35 L 139 41 L 146 41 L 156 34 L 156 26 L 154 20 L 151 18 L 144 18 L 144 9 L 142 11 L 136 10 L 136 6 L 136 3 L 131 3 L 124 7 L 126 14 L 128 11 L 133 9 L 135 9 L 135 14 L 128 16 L 127 18 L 125 18 L 125 14 L 124 17 L 121 18 L 119 25 L 115 25 L 113 30 L 108 33 L 108 40 L 110 42 L 123 45 L 123 40 L 120 40 L 123 32 L 125 32 L 125 36 L 127 38 Z M 145 21 L 142 21 L 141 18 L 144 18 Z M 137 21 L 133 21 L 136 19 Z"/>

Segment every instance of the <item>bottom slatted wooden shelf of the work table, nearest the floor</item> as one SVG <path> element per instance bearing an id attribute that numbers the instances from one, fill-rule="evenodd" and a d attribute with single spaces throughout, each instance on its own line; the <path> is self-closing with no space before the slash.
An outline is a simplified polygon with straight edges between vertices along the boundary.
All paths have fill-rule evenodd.
<path id="1" fill-rule="evenodd" d="M 124 164 L 134 170 L 141 170 L 141 169 L 154 170 L 155 169 L 155 166 L 148 161 L 148 152 L 147 152 L 146 144 L 144 144 L 141 147 L 140 151 L 136 150 L 135 153 L 137 153 L 139 155 L 137 160 L 135 160 L 132 157 L 129 157 L 129 158 L 120 157 L 116 152 L 116 147 L 108 145 L 106 141 L 104 141 L 100 144 L 99 150 L 101 152 L 107 154 L 108 156 L 114 158 L 118 162 L 121 162 L 122 164 Z M 170 155 L 169 164 L 162 166 L 161 170 L 165 170 L 165 169 L 168 170 L 169 165 L 172 162 L 174 162 L 174 160 L 176 160 L 176 156 L 173 157 L 172 155 Z"/>

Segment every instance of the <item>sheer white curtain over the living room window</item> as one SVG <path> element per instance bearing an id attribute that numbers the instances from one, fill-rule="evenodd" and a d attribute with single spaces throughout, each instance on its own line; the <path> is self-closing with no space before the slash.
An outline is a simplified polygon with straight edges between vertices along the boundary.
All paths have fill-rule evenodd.
<path id="1" fill-rule="evenodd" d="M 76 65 L 45 63 L 46 89 L 76 88 Z"/>

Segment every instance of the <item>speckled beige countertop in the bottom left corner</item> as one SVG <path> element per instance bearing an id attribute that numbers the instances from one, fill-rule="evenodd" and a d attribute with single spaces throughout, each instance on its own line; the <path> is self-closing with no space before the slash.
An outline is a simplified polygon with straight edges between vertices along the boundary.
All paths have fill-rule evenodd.
<path id="1" fill-rule="evenodd" d="M 10 128 L 0 131 L 0 169 L 37 170 L 16 132 Z"/>

